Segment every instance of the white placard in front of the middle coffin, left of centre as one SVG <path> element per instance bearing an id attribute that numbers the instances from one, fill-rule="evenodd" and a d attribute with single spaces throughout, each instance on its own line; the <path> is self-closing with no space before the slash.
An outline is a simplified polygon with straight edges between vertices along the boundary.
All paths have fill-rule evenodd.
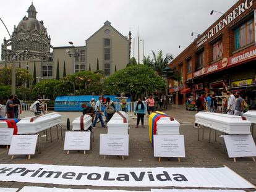
<path id="1" fill-rule="evenodd" d="M 100 155 L 129 156 L 129 135 L 100 134 Z"/>

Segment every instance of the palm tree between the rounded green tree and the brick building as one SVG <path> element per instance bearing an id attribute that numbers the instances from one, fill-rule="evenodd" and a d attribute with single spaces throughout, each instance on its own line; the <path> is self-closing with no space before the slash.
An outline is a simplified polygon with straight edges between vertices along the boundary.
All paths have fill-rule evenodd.
<path id="1" fill-rule="evenodd" d="M 168 66 L 169 62 L 171 62 L 174 59 L 174 56 L 172 54 L 166 54 L 166 57 L 163 59 L 163 51 L 158 51 L 158 54 L 156 56 L 155 52 L 153 53 L 153 69 L 158 73 L 158 75 L 163 76 L 164 75 L 164 69 L 166 66 Z"/>

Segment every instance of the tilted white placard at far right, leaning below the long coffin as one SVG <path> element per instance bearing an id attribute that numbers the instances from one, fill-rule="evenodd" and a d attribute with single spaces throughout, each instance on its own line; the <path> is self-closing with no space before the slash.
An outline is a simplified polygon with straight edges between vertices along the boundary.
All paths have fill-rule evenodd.
<path id="1" fill-rule="evenodd" d="M 252 135 L 224 135 L 228 156 L 256 157 L 256 146 Z"/>

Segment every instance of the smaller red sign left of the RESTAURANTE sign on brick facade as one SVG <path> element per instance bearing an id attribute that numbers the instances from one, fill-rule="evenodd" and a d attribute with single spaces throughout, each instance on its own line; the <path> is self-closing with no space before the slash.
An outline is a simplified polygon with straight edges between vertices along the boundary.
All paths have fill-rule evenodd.
<path id="1" fill-rule="evenodd" d="M 226 67 L 227 64 L 228 64 L 228 59 L 223 58 L 221 61 L 218 61 L 212 65 L 209 65 L 208 67 L 203 67 L 202 69 L 194 72 L 193 77 L 198 77 L 200 75 L 204 75 L 210 72 L 215 72 L 216 70 Z"/>

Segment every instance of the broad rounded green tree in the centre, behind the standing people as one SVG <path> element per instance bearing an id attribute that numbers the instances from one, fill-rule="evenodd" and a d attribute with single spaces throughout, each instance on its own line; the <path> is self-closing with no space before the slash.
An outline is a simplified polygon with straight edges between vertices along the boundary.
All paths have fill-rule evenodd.
<path id="1" fill-rule="evenodd" d="M 105 80 L 104 85 L 109 94 L 130 93 L 134 101 L 145 91 L 153 92 L 166 88 L 163 77 L 146 65 L 131 65 L 118 70 Z"/>

